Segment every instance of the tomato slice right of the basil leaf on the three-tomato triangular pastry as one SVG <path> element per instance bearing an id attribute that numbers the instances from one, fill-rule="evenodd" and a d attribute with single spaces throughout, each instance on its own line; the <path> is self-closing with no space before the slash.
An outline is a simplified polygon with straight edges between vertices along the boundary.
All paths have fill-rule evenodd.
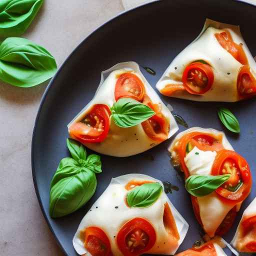
<path id="1" fill-rule="evenodd" d="M 169 122 L 161 113 L 161 106 L 153 104 L 150 98 L 145 94 L 143 104 L 148 105 L 155 111 L 155 115 L 141 123 L 146 135 L 155 141 L 163 141 L 168 138 Z"/>

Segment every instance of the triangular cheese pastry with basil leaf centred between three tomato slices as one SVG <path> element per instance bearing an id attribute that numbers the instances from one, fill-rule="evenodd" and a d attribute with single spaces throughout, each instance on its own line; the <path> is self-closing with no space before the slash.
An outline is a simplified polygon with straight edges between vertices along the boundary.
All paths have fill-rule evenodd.
<path id="1" fill-rule="evenodd" d="M 123 98 L 133 100 L 137 105 L 134 102 L 118 104 L 118 118 L 122 122 L 122 126 L 118 126 L 112 117 L 112 107 Z M 141 117 L 141 105 L 146 105 L 154 114 L 132 125 Z M 68 124 L 71 138 L 96 152 L 113 156 L 143 152 L 169 138 L 177 130 L 170 110 L 135 62 L 119 63 L 103 71 L 93 99 Z"/>

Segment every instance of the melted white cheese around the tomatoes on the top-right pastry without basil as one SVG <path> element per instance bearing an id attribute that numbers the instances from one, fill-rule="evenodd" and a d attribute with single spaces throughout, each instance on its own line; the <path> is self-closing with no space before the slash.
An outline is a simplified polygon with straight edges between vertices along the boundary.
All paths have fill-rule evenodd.
<path id="1" fill-rule="evenodd" d="M 176 91 L 172 96 L 197 101 L 233 102 L 239 100 L 236 80 L 242 64 L 217 41 L 214 34 L 223 32 L 223 29 L 230 32 L 235 43 L 242 43 L 251 72 L 256 77 L 256 63 L 241 36 L 239 26 L 206 19 L 201 33 L 172 60 L 156 83 L 156 88 L 161 91 L 167 84 L 182 84 L 182 74 L 185 67 L 191 62 L 201 59 L 212 67 L 214 81 L 211 89 L 202 95 Z"/>

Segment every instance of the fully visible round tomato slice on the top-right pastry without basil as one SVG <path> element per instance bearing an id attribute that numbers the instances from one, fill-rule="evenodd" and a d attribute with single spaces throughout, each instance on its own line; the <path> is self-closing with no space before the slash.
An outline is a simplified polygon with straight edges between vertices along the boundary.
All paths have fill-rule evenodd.
<path id="1" fill-rule="evenodd" d="M 201 62 L 192 62 L 187 65 L 182 75 L 184 87 L 191 94 L 205 93 L 211 88 L 213 81 L 211 66 Z"/>

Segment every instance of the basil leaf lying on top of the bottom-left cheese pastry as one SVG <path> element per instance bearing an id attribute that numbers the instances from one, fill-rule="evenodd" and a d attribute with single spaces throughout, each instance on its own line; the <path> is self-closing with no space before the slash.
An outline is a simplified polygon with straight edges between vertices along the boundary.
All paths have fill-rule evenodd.
<path id="1" fill-rule="evenodd" d="M 148 207 L 159 198 L 161 192 L 162 186 L 158 182 L 136 186 L 127 193 L 127 204 L 129 207 Z"/>

